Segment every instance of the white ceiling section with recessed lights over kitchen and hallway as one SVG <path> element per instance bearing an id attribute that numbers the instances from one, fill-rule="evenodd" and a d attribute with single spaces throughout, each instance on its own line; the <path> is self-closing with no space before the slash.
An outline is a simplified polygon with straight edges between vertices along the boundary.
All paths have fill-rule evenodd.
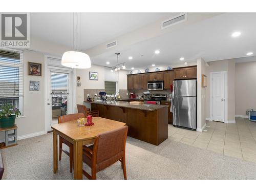
<path id="1" fill-rule="evenodd" d="M 199 57 L 214 61 L 246 57 L 247 52 L 256 55 L 255 23 L 256 13 L 221 14 L 120 50 L 119 63 L 126 62 L 130 70 L 131 67 L 150 67 L 152 63 L 172 66 L 173 63 L 196 61 Z M 232 38 L 234 31 L 241 31 L 241 36 Z M 159 55 L 154 54 L 156 49 L 160 50 Z M 105 52 L 91 59 L 97 65 L 106 66 L 105 62 L 110 61 L 109 66 L 115 66 L 114 53 Z M 133 60 L 129 60 L 129 56 L 133 56 Z M 185 60 L 180 61 L 180 57 Z"/>

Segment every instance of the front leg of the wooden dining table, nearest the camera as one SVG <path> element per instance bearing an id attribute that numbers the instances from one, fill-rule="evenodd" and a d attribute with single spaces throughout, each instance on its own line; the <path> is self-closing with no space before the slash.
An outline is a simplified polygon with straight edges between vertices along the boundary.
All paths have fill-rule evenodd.
<path id="1" fill-rule="evenodd" d="M 74 153 L 74 179 L 82 179 L 82 141 L 73 145 Z"/>

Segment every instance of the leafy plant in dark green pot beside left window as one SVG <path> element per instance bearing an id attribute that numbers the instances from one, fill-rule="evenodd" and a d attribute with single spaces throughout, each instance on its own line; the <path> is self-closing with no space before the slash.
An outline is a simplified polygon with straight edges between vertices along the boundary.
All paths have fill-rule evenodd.
<path id="1" fill-rule="evenodd" d="M 0 110 L 0 127 L 13 127 L 15 124 L 15 118 L 21 115 L 20 111 L 13 105 L 6 104 L 2 106 Z"/>

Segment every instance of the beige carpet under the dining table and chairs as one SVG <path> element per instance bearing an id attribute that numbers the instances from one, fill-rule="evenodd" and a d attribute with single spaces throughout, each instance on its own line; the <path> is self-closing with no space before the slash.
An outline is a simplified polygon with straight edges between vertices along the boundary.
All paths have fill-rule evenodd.
<path id="1" fill-rule="evenodd" d="M 66 154 L 59 161 L 58 173 L 53 174 L 51 133 L 20 140 L 1 152 L 3 179 L 73 179 Z M 155 146 L 128 137 L 126 166 L 127 179 L 256 179 L 256 163 L 170 139 Z M 121 163 L 102 170 L 97 179 L 123 179 Z"/>

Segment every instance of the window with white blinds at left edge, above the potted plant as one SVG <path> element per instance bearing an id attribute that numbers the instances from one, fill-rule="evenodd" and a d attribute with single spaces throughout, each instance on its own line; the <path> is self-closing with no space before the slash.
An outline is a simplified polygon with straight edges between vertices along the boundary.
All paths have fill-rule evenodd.
<path id="1" fill-rule="evenodd" d="M 23 108 L 23 53 L 0 49 L 0 107 Z M 23 112 L 22 112 L 23 113 Z"/>

